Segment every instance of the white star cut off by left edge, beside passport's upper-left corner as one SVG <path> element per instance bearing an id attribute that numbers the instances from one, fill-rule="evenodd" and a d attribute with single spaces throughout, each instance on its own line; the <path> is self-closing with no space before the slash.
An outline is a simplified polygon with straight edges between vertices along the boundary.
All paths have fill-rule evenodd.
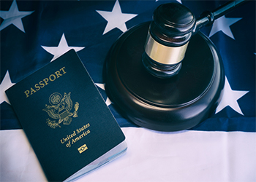
<path id="1" fill-rule="evenodd" d="M 7 71 L 0 84 L 0 104 L 4 101 L 10 104 L 10 101 L 4 91 L 12 87 L 12 85 L 14 84 L 11 82 L 9 71 Z"/>

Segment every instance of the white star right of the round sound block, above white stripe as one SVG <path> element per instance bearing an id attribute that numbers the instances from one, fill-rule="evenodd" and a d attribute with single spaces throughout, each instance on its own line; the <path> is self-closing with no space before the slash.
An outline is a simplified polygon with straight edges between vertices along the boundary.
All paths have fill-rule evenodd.
<path id="1" fill-rule="evenodd" d="M 241 108 L 238 105 L 237 100 L 249 91 L 238 91 L 238 90 L 232 90 L 230 87 L 229 82 L 227 81 L 227 77 L 225 77 L 225 86 L 224 86 L 224 93 L 221 102 L 219 103 L 219 106 L 216 109 L 215 114 L 217 114 L 219 111 L 222 111 L 223 108 L 230 106 L 238 112 L 241 115 L 244 115 L 241 111 Z"/>

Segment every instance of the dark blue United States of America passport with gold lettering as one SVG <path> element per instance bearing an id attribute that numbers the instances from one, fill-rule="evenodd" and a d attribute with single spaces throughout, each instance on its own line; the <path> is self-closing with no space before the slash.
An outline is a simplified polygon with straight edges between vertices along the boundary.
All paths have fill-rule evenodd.
<path id="1" fill-rule="evenodd" d="M 75 50 L 6 90 L 48 181 L 72 181 L 127 150 Z"/>

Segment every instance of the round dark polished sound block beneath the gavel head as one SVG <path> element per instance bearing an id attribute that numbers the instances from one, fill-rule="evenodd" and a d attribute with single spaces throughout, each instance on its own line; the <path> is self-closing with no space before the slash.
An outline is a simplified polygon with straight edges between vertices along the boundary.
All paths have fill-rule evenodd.
<path id="1" fill-rule="evenodd" d="M 150 22 L 118 38 L 106 58 L 106 91 L 114 106 L 141 127 L 178 131 L 208 118 L 222 96 L 225 74 L 214 44 L 192 36 L 178 75 L 157 78 L 143 66 Z"/>

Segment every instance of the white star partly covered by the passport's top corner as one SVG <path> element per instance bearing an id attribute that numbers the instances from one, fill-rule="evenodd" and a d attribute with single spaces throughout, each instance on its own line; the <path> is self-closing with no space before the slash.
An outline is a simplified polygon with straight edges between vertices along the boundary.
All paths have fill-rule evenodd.
<path id="1" fill-rule="evenodd" d="M 53 60 L 56 60 L 57 58 L 59 58 L 61 55 L 68 52 L 69 50 L 74 49 L 75 52 L 78 52 L 85 48 L 85 47 L 69 47 L 69 45 L 67 44 L 66 38 L 64 36 L 64 33 L 61 36 L 61 41 L 59 41 L 58 47 L 46 47 L 46 46 L 41 46 L 41 47 L 44 48 L 47 52 L 50 52 L 50 54 L 54 55 L 53 59 L 50 60 L 50 62 L 52 62 Z"/>

